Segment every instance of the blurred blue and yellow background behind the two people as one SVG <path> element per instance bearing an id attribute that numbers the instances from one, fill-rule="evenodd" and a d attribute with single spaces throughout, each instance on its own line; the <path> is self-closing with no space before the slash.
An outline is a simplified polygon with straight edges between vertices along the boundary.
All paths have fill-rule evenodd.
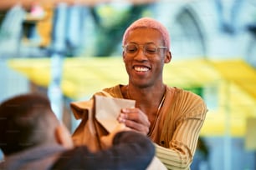
<path id="1" fill-rule="evenodd" d="M 166 84 L 207 102 L 192 169 L 256 169 L 255 0 L 1 1 L 0 102 L 43 93 L 74 132 L 70 102 L 127 83 L 122 34 L 141 17 L 170 32 Z"/>

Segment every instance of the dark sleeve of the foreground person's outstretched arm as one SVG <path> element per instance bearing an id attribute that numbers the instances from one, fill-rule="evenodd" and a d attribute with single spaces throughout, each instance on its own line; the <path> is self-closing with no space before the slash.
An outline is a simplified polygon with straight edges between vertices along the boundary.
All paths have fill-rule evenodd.
<path id="1" fill-rule="evenodd" d="M 149 138 L 135 132 L 117 133 L 113 147 L 90 153 L 86 147 L 65 152 L 52 169 L 146 169 L 155 155 Z"/>

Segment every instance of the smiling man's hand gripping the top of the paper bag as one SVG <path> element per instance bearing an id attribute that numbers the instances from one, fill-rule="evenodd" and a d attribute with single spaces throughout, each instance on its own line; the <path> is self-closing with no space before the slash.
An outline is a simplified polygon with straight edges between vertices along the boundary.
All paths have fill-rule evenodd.
<path id="1" fill-rule="evenodd" d="M 126 127 L 131 128 L 139 133 L 147 135 L 151 123 L 148 117 L 140 108 L 123 108 L 120 116 L 117 118 L 119 122 L 125 123 Z"/>

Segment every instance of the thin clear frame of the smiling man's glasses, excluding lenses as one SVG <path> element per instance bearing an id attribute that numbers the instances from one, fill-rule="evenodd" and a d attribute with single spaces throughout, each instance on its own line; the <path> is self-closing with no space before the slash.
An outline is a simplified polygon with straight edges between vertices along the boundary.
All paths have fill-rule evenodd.
<path id="1" fill-rule="evenodd" d="M 126 47 L 127 47 L 129 44 L 134 44 L 134 45 L 136 45 L 136 47 L 137 47 L 136 52 L 127 52 L 127 51 L 126 51 Z M 125 44 L 124 46 L 122 46 L 122 47 L 123 47 L 123 50 L 124 50 L 125 53 L 127 53 L 127 54 L 129 54 L 129 55 L 136 55 L 136 53 L 139 52 L 139 48 L 141 48 L 141 46 L 142 46 L 142 51 L 143 51 L 144 55 L 146 55 L 146 56 L 156 55 L 156 53 L 159 52 L 159 49 L 167 49 L 167 48 L 168 48 L 168 47 L 166 47 L 166 46 L 156 46 L 156 52 L 154 52 L 154 53 L 147 53 L 147 52 L 146 52 L 146 45 L 149 45 L 149 44 L 153 44 L 154 46 L 156 46 L 156 44 L 155 44 L 154 42 L 147 42 L 147 43 L 144 43 L 144 44 L 138 44 L 138 43 L 136 43 L 136 42 L 129 42 L 129 43 L 126 43 L 126 44 Z"/>

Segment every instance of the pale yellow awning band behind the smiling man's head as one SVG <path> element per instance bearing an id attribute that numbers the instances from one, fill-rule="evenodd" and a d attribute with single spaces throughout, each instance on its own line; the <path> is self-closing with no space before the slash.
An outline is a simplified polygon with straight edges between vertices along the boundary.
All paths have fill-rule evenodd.
<path id="1" fill-rule="evenodd" d="M 9 61 L 9 65 L 38 86 L 49 86 L 49 58 L 13 59 Z M 62 76 L 61 88 L 64 95 L 75 100 L 90 96 L 104 87 L 128 81 L 121 57 L 65 58 Z M 170 86 L 202 87 L 218 78 L 218 73 L 201 59 L 171 62 L 166 64 L 164 70 L 164 81 Z"/>

